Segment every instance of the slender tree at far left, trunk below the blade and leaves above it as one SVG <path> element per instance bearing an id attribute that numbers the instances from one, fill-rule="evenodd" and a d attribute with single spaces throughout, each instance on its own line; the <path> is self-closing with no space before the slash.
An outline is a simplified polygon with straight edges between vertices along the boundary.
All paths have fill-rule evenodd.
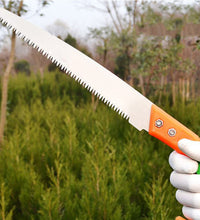
<path id="1" fill-rule="evenodd" d="M 41 8 L 47 6 L 51 0 L 38 0 L 39 1 L 39 8 L 37 13 L 40 11 Z M 0 6 L 7 9 L 8 11 L 13 12 L 18 16 L 22 16 L 27 14 L 30 10 L 28 5 L 24 3 L 24 0 L 0 0 Z M 4 130 L 6 125 L 6 108 L 7 108 L 7 99 L 8 99 L 8 80 L 11 70 L 13 68 L 14 59 L 15 59 L 15 45 L 16 45 L 16 34 L 14 31 L 11 33 L 11 48 L 10 48 L 10 56 L 9 61 L 6 67 L 6 70 L 3 75 L 2 80 L 2 100 L 1 100 L 1 117 L 0 117 L 0 145 L 3 144 L 4 140 Z"/>

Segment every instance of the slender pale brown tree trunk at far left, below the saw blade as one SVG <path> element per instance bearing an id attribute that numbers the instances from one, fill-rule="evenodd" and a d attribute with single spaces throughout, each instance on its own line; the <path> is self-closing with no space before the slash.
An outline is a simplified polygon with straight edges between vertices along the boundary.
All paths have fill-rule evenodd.
<path id="1" fill-rule="evenodd" d="M 10 57 L 2 82 L 3 84 L 2 84 L 2 99 L 1 99 L 0 145 L 3 144 L 3 140 L 4 140 L 4 130 L 6 125 L 6 108 L 7 108 L 7 98 L 8 98 L 8 80 L 15 58 L 15 43 L 16 43 L 16 35 L 13 32 L 11 37 Z"/>

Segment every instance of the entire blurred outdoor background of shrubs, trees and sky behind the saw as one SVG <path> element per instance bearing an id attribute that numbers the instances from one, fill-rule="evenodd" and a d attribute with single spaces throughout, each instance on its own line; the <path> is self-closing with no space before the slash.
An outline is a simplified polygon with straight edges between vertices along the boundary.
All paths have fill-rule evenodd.
<path id="1" fill-rule="evenodd" d="M 200 134 L 198 0 L 0 6 L 93 58 Z M 131 127 L 4 25 L 0 81 L 0 219 L 181 214 L 169 183 L 171 149 Z"/>

